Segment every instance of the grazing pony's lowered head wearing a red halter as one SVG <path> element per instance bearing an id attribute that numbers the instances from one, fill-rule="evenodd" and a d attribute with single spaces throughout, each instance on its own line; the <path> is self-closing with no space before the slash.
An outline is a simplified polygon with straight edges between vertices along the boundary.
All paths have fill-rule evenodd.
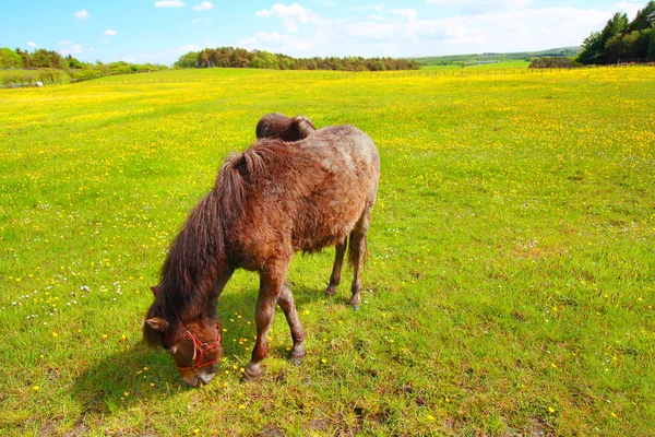
<path id="1" fill-rule="evenodd" d="M 216 362 L 223 353 L 221 323 L 204 316 L 182 321 L 163 315 L 157 287 L 152 290 L 155 303 L 143 323 L 143 339 L 151 346 L 160 345 L 172 356 L 184 382 L 192 387 L 209 383 L 216 375 Z"/>

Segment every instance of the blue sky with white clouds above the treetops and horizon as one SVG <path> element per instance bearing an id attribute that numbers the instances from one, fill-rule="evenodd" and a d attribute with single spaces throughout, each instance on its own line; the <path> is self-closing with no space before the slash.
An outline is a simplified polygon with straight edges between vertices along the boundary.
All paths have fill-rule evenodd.
<path id="1" fill-rule="evenodd" d="M 291 56 L 430 56 L 580 45 L 643 1 L 0 0 L 0 47 L 169 64 L 203 47 Z M 4 3 L 4 4 L 2 4 Z"/>

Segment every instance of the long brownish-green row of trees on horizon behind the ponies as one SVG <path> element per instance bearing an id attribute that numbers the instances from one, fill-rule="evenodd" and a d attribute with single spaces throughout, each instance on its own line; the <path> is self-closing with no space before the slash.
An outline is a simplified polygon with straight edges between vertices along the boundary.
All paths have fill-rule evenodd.
<path id="1" fill-rule="evenodd" d="M 418 70 L 414 60 L 397 58 L 294 58 L 265 50 L 246 50 L 235 47 L 205 48 L 180 56 L 177 68 L 255 68 L 272 70 L 337 70 L 337 71 L 384 71 Z"/>

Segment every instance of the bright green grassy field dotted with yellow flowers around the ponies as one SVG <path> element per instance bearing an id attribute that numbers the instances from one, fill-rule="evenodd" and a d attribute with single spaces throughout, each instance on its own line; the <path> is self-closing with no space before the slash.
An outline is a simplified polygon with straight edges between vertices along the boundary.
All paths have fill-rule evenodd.
<path id="1" fill-rule="evenodd" d="M 652 435 L 655 70 L 321 74 L 0 90 L 0 434 Z M 288 363 L 277 311 L 241 383 L 258 279 L 239 272 L 219 375 L 188 388 L 141 343 L 148 286 L 271 111 L 380 150 L 362 308 L 349 271 L 322 294 L 333 250 L 298 255 L 308 356 Z"/>

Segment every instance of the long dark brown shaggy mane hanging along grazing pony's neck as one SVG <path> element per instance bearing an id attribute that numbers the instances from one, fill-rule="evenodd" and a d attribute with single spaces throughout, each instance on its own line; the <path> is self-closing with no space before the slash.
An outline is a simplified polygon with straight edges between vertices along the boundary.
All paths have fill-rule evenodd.
<path id="1" fill-rule="evenodd" d="M 279 140 L 263 140 L 227 158 L 214 189 L 191 211 L 170 245 L 147 319 L 160 317 L 175 326 L 182 315 L 202 314 L 217 264 L 226 256 L 226 237 L 243 212 L 250 180 L 265 169 L 281 144 Z M 147 324 L 144 338 L 151 344 L 160 342 L 160 333 Z"/>

